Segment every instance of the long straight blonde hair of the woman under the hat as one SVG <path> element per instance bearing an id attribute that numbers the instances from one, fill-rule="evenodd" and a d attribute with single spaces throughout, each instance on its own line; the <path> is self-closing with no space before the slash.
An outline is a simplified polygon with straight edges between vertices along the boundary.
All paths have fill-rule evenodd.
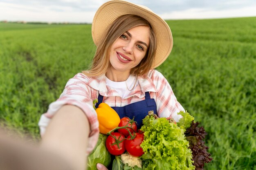
<path id="1" fill-rule="evenodd" d="M 137 15 L 122 15 L 112 23 L 106 31 L 105 37 L 101 39 L 97 46 L 90 69 L 83 71 L 83 74 L 92 77 L 105 74 L 111 66 L 109 55 L 112 44 L 127 30 L 141 25 L 150 28 L 150 43 L 145 57 L 137 66 L 131 69 L 130 74 L 137 76 L 146 75 L 152 67 L 157 44 L 155 33 L 148 21 Z"/>

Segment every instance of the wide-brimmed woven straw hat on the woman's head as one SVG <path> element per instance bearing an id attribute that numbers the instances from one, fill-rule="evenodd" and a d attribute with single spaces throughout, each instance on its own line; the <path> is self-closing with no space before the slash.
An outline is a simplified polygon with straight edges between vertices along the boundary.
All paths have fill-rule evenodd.
<path id="1" fill-rule="evenodd" d="M 138 15 L 146 19 L 153 28 L 157 38 L 155 60 L 151 68 L 162 64 L 173 48 L 173 37 L 168 24 L 153 11 L 142 5 L 137 5 L 124 0 L 111 0 L 99 7 L 92 22 L 92 39 L 98 46 L 105 31 L 114 20 L 122 15 Z"/>

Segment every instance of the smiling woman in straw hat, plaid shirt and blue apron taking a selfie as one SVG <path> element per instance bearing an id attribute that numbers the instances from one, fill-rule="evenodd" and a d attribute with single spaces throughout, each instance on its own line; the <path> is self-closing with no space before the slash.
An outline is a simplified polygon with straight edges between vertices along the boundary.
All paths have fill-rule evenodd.
<path id="1" fill-rule="evenodd" d="M 184 110 L 154 70 L 173 46 L 171 30 L 158 15 L 130 2 L 106 2 L 94 16 L 92 38 L 97 51 L 91 68 L 67 82 L 39 121 L 42 147 L 65 155 L 76 169 L 84 169 L 84 153 L 92 151 L 99 135 L 93 99 L 110 105 L 120 118 L 135 116 L 139 127 L 150 110 L 175 121 Z"/>

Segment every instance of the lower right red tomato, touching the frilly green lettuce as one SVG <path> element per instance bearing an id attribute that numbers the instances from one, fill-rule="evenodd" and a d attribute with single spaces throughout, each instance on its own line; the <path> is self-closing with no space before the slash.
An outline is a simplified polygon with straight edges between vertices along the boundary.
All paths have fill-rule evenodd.
<path id="1" fill-rule="evenodd" d="M 134 139 L 129 140 L 131 137 L 128 136 L 125 141 L 125 147 L 127 152 L 135 157 L 140 157 L 144 154 L 142 148 L 140 147 L 140 144 L 142 143 L 144 139 L 143 133 L 135 133 L 136 137 Z M 134 134 L 133 134 L 134 135 Z"/>

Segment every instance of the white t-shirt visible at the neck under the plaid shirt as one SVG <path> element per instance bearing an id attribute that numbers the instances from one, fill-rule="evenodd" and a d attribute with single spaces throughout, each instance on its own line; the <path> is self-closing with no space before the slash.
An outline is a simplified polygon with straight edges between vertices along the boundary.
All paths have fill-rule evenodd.
<path id="1" fill-rule="evenodd" d="M 130 75 L 128 77 L 128 79 L 124 82 L 114 82 L 114 81 L 108 79 L 108 77 L 106 77 L 106 85 L 110 86 L 111 88 L 114 88 L 122 98 L 127 97 L 130 94 L 130 91 L 135 89 L 135 87 L 138 84 L 139 84 L 139 82 L 138 82 L 136 76 L 134 76 L 134 75 Z"/>

